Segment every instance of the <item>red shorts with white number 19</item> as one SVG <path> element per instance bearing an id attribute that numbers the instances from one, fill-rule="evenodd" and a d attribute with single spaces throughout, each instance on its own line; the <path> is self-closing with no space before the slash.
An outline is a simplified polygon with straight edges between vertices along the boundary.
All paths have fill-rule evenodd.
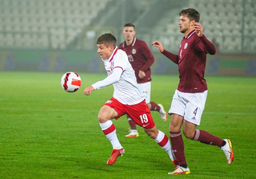
<path id="1" fill-rule="evenodd" d="M 146 129 L 151 129 L 155 126 L 155 122 L 151 116 L 150 109 L 148 108 L 145 100 L 138 104 L 128 105 L 120 103 L 115 98 L 111 98 L 104 105 L 110 106 L 116 110 L 118 113 L 116 120 L 124 114 L 128 114 L 139 126 L 142 126 Z"/>

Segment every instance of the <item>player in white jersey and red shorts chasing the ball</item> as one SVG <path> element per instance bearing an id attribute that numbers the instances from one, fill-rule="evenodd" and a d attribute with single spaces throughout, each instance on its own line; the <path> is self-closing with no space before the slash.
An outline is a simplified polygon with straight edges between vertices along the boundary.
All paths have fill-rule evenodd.
<path id="1" fill-rule="evenodd" d="M 124 148 L 117 138 L 112 119 L 117 120 L 124 114 L 128 114 L 136 124 L 144 129 L 150 138 L 154 139 L 168 153 L 175 165 L 176 160 L 172 153 L 170 141 L 166 134 L 156 128 L 148 105 L 144 100 L 145 96 L 138 89 L 134 70 L 126 53 L 116 47 L 116 38 L 111 33 L 105 33 L 98 37 L 97 47 L 97 53 L 102 58 L 108 77 L 86 87 L 84 94 L 90 95 L 92 90 L 109 85 L 114 86 L 113 97 L 101 107 L 98 114 L 100 127 L 113 147 L 107 164 L 115 163 L 117 157 L 124 153 Z"/>

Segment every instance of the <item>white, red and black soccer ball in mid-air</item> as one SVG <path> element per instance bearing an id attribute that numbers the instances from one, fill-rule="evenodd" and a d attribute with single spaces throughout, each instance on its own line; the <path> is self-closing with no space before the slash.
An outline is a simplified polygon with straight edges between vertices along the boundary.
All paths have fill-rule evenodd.
<path id="1" fill-rule="evenodd" d="M 81 87 L 81 78 L 77 73 L 65 73 L 60 80 L 61 87 L 66 92 L 76 92 Z"/>

